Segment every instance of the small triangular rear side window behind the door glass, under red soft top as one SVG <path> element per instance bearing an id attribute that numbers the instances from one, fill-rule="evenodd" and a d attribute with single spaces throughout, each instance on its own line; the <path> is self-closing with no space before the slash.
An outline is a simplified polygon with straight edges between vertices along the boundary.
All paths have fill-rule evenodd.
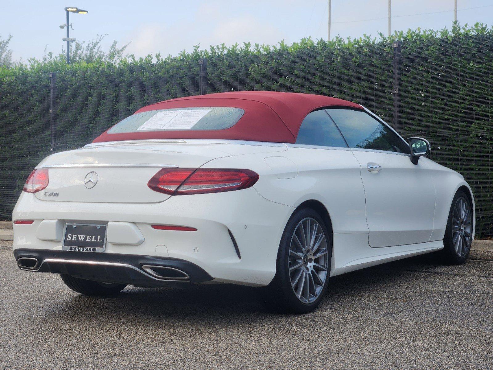
<path id="1" fill-rule="evenodd" d="M 348 148 L 341 133 L 324 110 L 309 113 L 301 122 L 296 144 Z"/>

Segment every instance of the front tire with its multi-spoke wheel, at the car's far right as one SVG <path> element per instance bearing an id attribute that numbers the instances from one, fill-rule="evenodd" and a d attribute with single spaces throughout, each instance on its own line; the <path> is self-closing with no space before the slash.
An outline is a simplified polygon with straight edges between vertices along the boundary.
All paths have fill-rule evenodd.
<path id="1" fill-rule="evenodd" d="M 468 211 L 465 212 L 465 217 L 460 214 L 461 204 Z M 459 212 L 457 212 L 458 210 Z M 440 251 L 442 261 L 448 264 L 461 264 L 467 259 L 471 251 L 473 237 L 472 217 L 473 211 L 469 197 L 465 192 L 459 190 L 450 206 L 449 218 L 447 219 L 447 227 L 443 238 L 443 250 Z"/>

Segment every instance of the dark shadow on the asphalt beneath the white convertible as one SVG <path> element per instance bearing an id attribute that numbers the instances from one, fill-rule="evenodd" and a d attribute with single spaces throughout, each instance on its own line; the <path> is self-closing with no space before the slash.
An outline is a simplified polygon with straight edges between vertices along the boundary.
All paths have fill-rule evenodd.
<path id="1" fill-rule="evenodd" d="M 317 312 L 329 307 L 346 304 L 348 297 L 371 296 L 387 290 L 403 275 L 416 273 L 436 266 L 428 257 L 416 257 L 389 262 L 380 266 L 350 272 L 331 278 L 327 295 Z M 402 282 L 400 282 L 402 284 Z M 413 282 L 409 280 L 408 284 Z M 47 312 L 52 319 L 70 320 L 73 312 L 77 318 L 87 319 L 104 315 L 106 319 L 120 321 L 123 318 L 139 320 L 207 321 L 221 323 L 227 316 L 234 322 L 263 320 L 276 313 L 266 310 L 256 288 L 237 285 L 203 285 L 188 289 L 127 287 L 120 294 L 108 297 L 71 296 L 58 302 Z"/>

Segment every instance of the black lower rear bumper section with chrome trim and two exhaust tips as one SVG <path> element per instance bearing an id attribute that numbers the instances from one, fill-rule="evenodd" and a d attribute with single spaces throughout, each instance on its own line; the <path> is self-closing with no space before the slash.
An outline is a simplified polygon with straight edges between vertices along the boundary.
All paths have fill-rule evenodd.
<path id="1" fill-rule="evenodd" d="M 212 280 L 204 269 L 182 259 L 41 249 L 16 249 L 14 257 L 21 270 L 139 287 L 188 286 Z"/>

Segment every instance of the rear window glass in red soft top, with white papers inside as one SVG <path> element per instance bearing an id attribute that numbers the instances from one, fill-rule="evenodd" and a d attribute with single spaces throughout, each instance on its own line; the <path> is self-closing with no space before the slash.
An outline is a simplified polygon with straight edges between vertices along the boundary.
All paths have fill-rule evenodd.
<path id="1" fill-rule="evenodd" d="M 171 108 L 136 113 L 118 122 L 108 134 L 174 130 L 224 130 L 245 113 L 240 108 Z"/>

